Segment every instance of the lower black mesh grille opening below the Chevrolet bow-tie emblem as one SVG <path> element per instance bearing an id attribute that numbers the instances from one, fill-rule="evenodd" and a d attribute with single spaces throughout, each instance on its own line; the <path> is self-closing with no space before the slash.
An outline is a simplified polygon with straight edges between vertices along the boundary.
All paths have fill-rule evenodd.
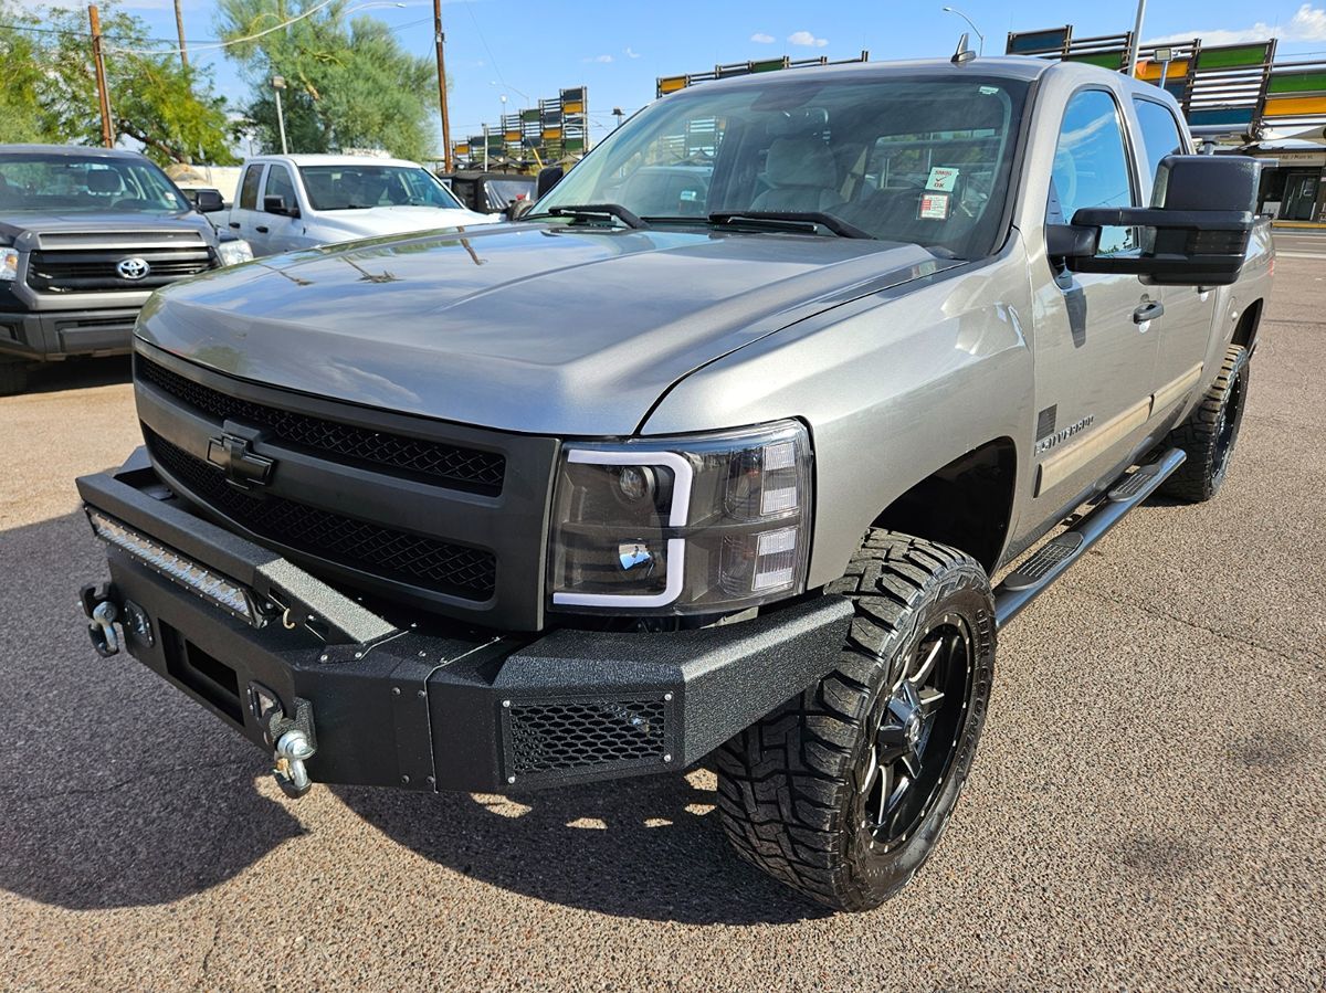
<path id="1" fill-rule="evenodd" d="M 248 496 L 206 460 L 152 431 L 145 434 L 158 465 L 186 491 L 268 541 L 452 597 L 481 602 L 493 595 L 497 561 L 491 552 L 382 528 L 284 497 Z"/>

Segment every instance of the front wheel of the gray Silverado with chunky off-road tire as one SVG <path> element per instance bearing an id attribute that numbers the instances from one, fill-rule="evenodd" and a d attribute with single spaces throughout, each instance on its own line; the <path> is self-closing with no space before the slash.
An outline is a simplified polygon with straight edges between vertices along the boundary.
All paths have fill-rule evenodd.
<path id="1" fill-rule="evenodd" d="M 878 907 L 939 841 L 994 675 L 994 603 L 969 555 L 874 530 L 830 593 L 854 601 L 838 668 L 717 752 L 748 862 L 837 909 Z"/>

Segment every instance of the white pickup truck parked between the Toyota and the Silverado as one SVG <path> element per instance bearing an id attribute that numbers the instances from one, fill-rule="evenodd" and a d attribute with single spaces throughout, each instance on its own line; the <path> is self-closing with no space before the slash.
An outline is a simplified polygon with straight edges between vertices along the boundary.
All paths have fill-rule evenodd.
<path id="1" fill-rule="evenodd" d="M 467 209 L 415 162 L 263 155 L 244 162 L 229 227 L 264 256 L 497 220 L 501 215 Z"/>

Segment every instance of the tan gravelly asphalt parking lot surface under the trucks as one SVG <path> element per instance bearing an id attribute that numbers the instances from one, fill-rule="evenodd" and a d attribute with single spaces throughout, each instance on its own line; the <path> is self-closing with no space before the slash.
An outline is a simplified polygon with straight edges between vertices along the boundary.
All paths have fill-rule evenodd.
<path id="1" fill-rule="evenodd" d="M 1326 237 L 1278 284 L 1219 498 L 1154 501 L 1001 634 L 914 883 L 834 916 L 729 855 L 713 780 L 314 788 L 74 605 L 127 363 L 0 399 L 0 989 L 1326 989 Z"/>

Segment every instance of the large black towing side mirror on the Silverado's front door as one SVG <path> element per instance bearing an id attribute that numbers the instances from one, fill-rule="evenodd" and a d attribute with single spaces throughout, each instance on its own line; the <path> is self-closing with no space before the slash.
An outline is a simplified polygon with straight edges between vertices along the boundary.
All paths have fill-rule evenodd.
<path id="1" fill-rule="evenodd" d="M 1228 286 L 1248 255 L 1260 178 L 1260 163 L 1245 155 L 1167 155 L 1151 207 L 1085 207 L 1071 225 L 1046 229 L 1048 252 L 1073 272 L 1128 273 L 1156 286 Z M 1142 228 L 1140 253 L 1097 256 L 1103 227 Z"/>

